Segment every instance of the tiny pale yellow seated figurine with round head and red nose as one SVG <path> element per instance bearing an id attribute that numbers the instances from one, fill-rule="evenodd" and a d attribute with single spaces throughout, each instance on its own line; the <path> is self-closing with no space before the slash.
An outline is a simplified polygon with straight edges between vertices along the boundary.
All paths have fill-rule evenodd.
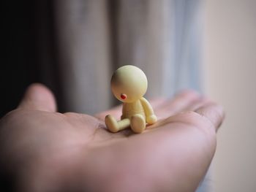
<path id="1" fill-rule="evenodd" d="M 148 88 L 146 74 L 137 66 L 121 66 L 111 78 L 111 90 L 116 99 L 124 102 L 121 120 L 111 115 L 105 117 L 108 130 L 116 133 L 124 128 L 132 128 L 135 133 L 141 133 L 146 123 L 154 124 L 157 116 L 151 104 L 143 98 Z"/>

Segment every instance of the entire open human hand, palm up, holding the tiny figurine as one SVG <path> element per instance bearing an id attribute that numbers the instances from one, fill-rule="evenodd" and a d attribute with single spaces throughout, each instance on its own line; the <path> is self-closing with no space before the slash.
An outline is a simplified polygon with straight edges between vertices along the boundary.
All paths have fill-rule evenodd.
<path id="1" fill-rule="evenodd" d="M 0 121 L 1 182 L 14 191 L 195 191 L 214 156 L 222 107 L 194 91 L 151 104 L 157 123 L 113 134 L 104 118 L 120 117 L 121 107 L 61 114 L 48 88 L 31 85 Z"/>

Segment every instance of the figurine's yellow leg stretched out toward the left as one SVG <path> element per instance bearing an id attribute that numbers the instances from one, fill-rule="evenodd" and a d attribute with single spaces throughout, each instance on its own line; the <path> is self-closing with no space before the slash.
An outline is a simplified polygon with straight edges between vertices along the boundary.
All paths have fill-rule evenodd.
<path id="1" fill-rule="evenodd" d="M 124 128 L 128 128 L 130 125 L 130 120 L 125 118 L 117 121 L 115 118 L 113 118 L 113 116 L 107 115 L 105 117 L 105 123 L 109 131 L 116 133 L 117 131 L 121 131 Z"/>

